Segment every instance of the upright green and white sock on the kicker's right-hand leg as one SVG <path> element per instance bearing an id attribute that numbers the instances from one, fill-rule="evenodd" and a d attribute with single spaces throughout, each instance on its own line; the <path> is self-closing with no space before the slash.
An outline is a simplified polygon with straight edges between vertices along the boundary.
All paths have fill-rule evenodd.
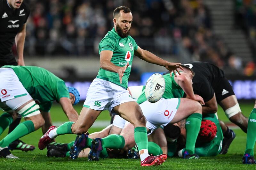
<path id="1" fill-rule="evenodd" d="M 147 158 L 148 155 L 148 135 L 146 127 L 134 128 L 134 140 L 138 146 L 140 161 Z"/>

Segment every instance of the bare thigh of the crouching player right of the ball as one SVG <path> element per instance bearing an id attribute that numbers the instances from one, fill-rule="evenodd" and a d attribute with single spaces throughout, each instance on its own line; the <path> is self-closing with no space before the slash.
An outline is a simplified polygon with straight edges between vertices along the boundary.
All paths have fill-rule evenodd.
<path id="1" fill-rule="evenodd" d="M 187 98 L 180 98 L 180 107 L 178 108 L 176 114 L 174 115 L 171 123 L 177 123 L 181 120 L 187 118 L 193 113 L 202 114 L 202 106 L 196 100 L 191 100 Z"/>

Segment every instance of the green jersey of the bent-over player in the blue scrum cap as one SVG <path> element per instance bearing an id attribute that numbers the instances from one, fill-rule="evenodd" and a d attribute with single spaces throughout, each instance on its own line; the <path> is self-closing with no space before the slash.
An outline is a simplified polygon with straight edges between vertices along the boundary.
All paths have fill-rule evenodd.
<path id="1" fill-rule="evenodd" d="M 22 85 L 44 112 L 49 112 L 53 101 L 59 101 L 61 97 L 69 98 L 65 82 L 44 68 L 10 65 L 4 67 L 14 70 Z"/>

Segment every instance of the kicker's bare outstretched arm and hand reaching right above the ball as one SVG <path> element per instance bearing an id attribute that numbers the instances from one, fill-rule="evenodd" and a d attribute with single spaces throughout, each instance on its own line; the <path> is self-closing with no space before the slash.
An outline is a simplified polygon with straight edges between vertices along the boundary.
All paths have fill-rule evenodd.
<path id="1" fill-rule="evenodd" d="M 183 68 L 180 66 L 181 63 L 170 63 L 140 47 L 138 47 L 138 49 L 134 51 L 134 55 L 138 56 L 140 59 L 145 60 L 148 63 L 164 66 L 167 70 L 170 71 L 170 74 L 173 71 L 175 77 L 177 77 L 176 71 L 180 75 L 180 71 L 178 70 L 178 68 L 183 70 Z"/>

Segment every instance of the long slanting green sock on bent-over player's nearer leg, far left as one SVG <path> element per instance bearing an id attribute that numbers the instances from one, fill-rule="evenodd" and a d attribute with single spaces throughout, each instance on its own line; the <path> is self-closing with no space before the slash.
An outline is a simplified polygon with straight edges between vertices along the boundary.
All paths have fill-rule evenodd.
<path id="1" fill-rule="evenodd" d="M 13 141 L 35 131 L 34 123 L 31 120 L 20 123 L 11 133 L 0 141 L 1 147 L 6 147 Z"/>

